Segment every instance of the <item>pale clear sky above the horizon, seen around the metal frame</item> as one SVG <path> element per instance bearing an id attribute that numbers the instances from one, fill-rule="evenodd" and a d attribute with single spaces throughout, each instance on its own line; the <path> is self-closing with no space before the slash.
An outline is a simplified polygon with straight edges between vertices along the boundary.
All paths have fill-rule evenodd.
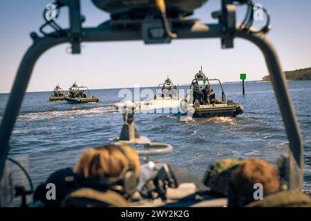
<path id="1" fill-rule="evenodd" d="M 0 1 L 0 93 L 9 93 L 19 62 L 32 44 L 30 32 L 39 33 L 44 23 L 43 10 L 51 0 Z M 109 19 L 91 0 L 81 0 L 83 27 L 95 27 Z M 254 0 L 270 12 L 269 37 L 279 54 L 283 70 L 311 67 L 311 1 Z M 211 12 L 220 9 L 220 0 L 209 0 L 192 17 L 202 23 L 216 23 Z M 245 6 L 237 8 L 242 21 Z M 68 10 L 59 19 L 68 28 Z M 260 27 L 263 22 L 256 23 Z M 69 44 L 55 46 L 42 55 L 32 73 L 27 91 L 53 90 L 56 84 L 68 88 L 74 81 L 88 88 L 132 88 L 157 86 L 169 75 L 174 84 L 189 84 L 203 66 L 210 78 L 238 81 L 240 73 L 247 80 L 267 75 L 261 51 L 249 41 L 234 40 L 234 49 L 222 50 L 220 39 L 187 39 L 171 44 L 145 45 L 143 41 L 82 43 L 80 55 L 68 54 Z"/>

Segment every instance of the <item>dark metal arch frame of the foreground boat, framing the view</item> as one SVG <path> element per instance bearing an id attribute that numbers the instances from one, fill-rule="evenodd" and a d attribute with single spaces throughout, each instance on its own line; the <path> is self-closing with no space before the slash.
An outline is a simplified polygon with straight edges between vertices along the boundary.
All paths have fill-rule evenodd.
<path id="1" fill-rule="evenodd" d="M 193 19 L 188 21 L 182 20 L 180 23 L 171 23 L 171 28 L 177 35 L 176 39 L 219 38 L 221 39 L 221 48 L 233 48 L 233 40 L 240 38 L 251 41 L 263 52 L 289 140 L 290 148 L 288 157 L 286 158 L 289 162 L 288 188 L 302 189 L 304 162 L 303 140 L 292 100 L 290 99 L 288 84 L 283 75 L 276 50 L 268 39 L 266 32 L 258 31 L 251 27 L 245 29 L 236 23 L 236 6 L 234 6 L 233 0 L 221 1 L 220 13 L 215 14 L 218 15 L 218 23 L 198 23 L 198 21 Z M 144 26 L 147 21 L 140 21 L 141 26 L 133 28 L 133 26 L 127 26 L 126 24 L 124 26 L 113 26 L 113 21 L 109 20 L 101 26 L 82 28 L 84 19 L 80 11 L 80 1 L 57 0 L 56 2 L 59 5 L 68 7 L 69 28 L 66 30 L 55 29 L 55 32 L 41 37 L 35 32 L 30 34 L 33 44 L 28 48 L 21 60 L 0 126 L 0 179 L 3 175 L 3 169 L 10 150 L 9 142 L 12 130 L 15 126 L 32 70 L 44 52 L 64 43 L 71 44 L 71 52 L 73 54 L 80 52 L 81 42 L 144 40 L 145 43 L 150 43 L 149 35 L 146 35 L 146 30 L 149 30 L 151 26 L 150 22 L 147 23 L 147 26 Z M 153 20 L 162 25 L 161 19 Z M 168 35 L 167 38 L 171 37 Z M 155 43 L 159 42 L 156 41 Z M 167 43 L 167 41 L 160 43 Z"/>

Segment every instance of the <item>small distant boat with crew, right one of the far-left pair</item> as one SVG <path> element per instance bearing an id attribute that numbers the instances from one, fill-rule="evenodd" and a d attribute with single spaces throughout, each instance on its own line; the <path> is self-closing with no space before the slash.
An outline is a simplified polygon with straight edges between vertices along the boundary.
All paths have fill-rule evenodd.
<path id="1" fill-rule="evenodd" d="M 86 95 L 87 91 L 88 95 Z M 89 103 L 89 102 L 99 102 L 100 99 L 95 96 L 90 95 L 90 91 L 86 86 L 77 86 L 76 83 L 73 83 L 72 86 L 69 88 L 69 92 L 65 96 L 66 102 L 70 104 L 82 104 L 82 103 Z"/>

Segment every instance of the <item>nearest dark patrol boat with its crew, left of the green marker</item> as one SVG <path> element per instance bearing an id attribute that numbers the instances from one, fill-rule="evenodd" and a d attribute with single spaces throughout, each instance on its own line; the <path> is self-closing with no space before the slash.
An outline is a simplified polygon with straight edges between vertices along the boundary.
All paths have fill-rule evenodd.
<path id="1" fill-rule="evenodd" d="M 221 89 L 221 99 L 211 88 L 211 81 L 217 81 Z M 190 84 L 191 95 L 187 95 L 185 106 L 192 117 L 236 117 L 243 113 L 243 106 L 232 99 L 226 99 L 223 85 L 219 79 L 209 79 L 201 70 Z"/>

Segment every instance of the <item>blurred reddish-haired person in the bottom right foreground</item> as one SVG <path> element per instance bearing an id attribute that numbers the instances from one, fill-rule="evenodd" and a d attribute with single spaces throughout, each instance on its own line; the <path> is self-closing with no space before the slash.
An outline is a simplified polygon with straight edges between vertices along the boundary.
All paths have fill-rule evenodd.
<path id="1" fill-rule="evenodd" d="M 244 160 L 232 173 L 228 206 L 311 206 L 310 197 L 301 191 L 281 191 L 279 180 L 272 164 L 258 158 Z"/>

